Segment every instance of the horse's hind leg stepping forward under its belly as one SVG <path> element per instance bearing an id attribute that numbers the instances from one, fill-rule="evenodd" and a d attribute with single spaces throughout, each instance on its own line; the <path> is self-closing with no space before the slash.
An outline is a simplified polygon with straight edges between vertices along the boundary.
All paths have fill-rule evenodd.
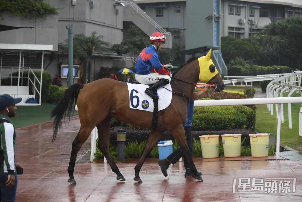
<path id="1" fill-rule="evenodd" d="M 115 164 L 114 160 L 112 159 L 109 153 L 109 137 L 110 137 L 110 122 L 111 116 L 107 116 L 104 121 L 97 125 L 98 128 L 98 147 L 104 154 L 104 157 L 107 159 L 111 170 L 117 174 L 117 180 L 126 181 L 124 176 L 120 173 L 117 165 Z"/>

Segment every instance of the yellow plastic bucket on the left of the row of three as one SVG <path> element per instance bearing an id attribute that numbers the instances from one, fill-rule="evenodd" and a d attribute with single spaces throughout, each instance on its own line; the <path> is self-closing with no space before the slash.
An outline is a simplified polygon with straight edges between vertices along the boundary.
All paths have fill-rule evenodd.
<path id="1" fill-rule="evenodd" d="M 200 144 L 203 158 L 217 158 L 218 157 L 218 144 L 219 135 L 201 135 Z"/>

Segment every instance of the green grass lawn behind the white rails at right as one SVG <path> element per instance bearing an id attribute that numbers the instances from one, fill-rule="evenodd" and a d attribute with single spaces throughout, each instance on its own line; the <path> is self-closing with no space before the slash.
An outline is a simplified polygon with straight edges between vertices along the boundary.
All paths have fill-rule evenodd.
<path id="1" fill-rule="evenodd" d="M 283 97 L 287 97 L 285 93 Z M 293 94 L 292 97 L 300 97 L 300 94 Z M 256 105 L 256 126 L 255 130 L 260 133 L 277 134 L 278 119 L 276 118 L 275 104 L 274 115 L 268 111 L 266 104 Z M 302 137 L 299 136 L 299 111 L 301 103 L 291 104 L 292 129 L 289 129 L 288 124 L 288 104 L 283 104 L 284 123 L 281 123 L 280 145 L 291 147 L 302 153 Z"/>

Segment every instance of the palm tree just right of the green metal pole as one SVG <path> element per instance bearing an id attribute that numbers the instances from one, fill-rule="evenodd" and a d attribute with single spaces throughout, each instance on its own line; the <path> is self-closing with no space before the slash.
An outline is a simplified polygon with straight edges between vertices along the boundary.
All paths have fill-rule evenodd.
<path id="1" fill-rule="evenodd" d="M 84 34 L 77 34 L 73 37 L 73 44 L 78 47 L 77 56 L 84 64 L 84 79 L 86 84 L 88 81 L 88 64 L 91 61 L 93 53 L 103 55 L 103 51 L 108 51 L 108 42 L 102 40 L 103 36 L 96 36 L 96 31 L 93 31 L 91 36 L 85 36 Z"/>

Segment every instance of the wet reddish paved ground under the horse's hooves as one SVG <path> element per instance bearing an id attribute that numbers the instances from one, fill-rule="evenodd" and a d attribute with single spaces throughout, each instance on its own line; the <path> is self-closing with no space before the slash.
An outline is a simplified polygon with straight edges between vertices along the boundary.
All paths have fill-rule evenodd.
<path id="1" fill-rule="evenodd" d="M 85 154 L 90 137 L 79 151 L 81 157 L 75 166 L 76 185 L 67 183 L 67 167 L 72 141 L 79 130 L 77 116 L 71 118 L 67 128 L 55 143 L 51 143 L 52 121 L 17 129 L 16 161 L 24 167 L 18 176 L 16 201 L 301 201 L 302 161 L 275 160 L 270 157 L 194 158 L 203 182 L 184 177 L 182 162 L 169 167 L 164 177 L 156 158 L 147 159 L 140 177 L 143 183 L 133 180 L 138 159 L 118 163 L 125 182 L 116 180 L 108 164 L 86 163 Z M 243 187 L 243 181 L 250 180 Z M 252 179 L 263 191 L 252 190 Z M 236 181 L 234 184 L 234 180 Z M 265 187 L 274 187 L 276 193 L 265 193 Z M 284 180 L 289 181 L 286 189 Z M 295 181 L 294 181 L 295 180 Z M 265 186 L 266 185 L 266 186 Z M 280 187 L 280 190 L 279 190 Z M 294 193 L 293 192 L 294 190 Z M 285 193 L 289 190 L 290 193 Z M 284 191 L 282 193 L 282 191 Z M 267 192 L 267 191 L 266 191 Z"/>

